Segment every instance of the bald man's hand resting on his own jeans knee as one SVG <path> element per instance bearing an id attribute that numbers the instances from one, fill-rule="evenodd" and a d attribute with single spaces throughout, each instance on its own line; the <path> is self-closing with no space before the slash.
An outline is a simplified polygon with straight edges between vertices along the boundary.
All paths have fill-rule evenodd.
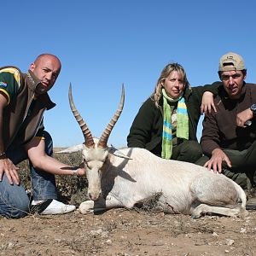
<path id="1" fill-rule="evenodd" d="M 4 158 L 0 160 L 0 181 L 3 179 L 3 173 L 5 173 L 6 177 L 9 180 L 9 183 L 13 185 L 14 183 L 19 185 L 20 178 L 18 175 L 18 170 L 14 163 L 9 160 L 9 158 Z"/>

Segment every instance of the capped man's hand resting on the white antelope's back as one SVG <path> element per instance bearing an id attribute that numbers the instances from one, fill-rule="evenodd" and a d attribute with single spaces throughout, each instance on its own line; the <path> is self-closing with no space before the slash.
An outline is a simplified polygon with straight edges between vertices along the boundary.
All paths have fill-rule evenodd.
<path id="1" fill-rule="evenodd" d="M 231 168 L 231 162 L 229 157 L 226 154 L 224 154 L 224 151 L 221 150 L 220 148 L 215 148 L 212 150 L 211 159 L 208 160 L 204 166 L 207 167 L 209 171 L 212 169 L 214 173 L 221 173 L 223 161 L 225 161 L 227 165 Z"/>

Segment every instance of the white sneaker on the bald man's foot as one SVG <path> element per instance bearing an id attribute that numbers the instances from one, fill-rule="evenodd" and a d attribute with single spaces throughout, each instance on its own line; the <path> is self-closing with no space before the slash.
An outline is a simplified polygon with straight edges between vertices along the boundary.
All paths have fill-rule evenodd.
<path id="1" fill-rule="evenodd" d="M 73 212 L 76 209 L 73 205 L 65 205 L 61 201 L 56 201 L 55 199 L 32 201 L 32 207 L 37 207 L 37 212 L 43 215 L 64 214 L 67 212 Z"/>

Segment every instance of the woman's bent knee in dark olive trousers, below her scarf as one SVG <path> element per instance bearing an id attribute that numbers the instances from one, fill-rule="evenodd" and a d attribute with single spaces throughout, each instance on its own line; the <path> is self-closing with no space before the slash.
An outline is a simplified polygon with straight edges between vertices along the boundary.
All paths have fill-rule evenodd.
<path id="1" fill-rule="evenodd" d="M 172 160 L 195 163 L 202 156 L 201 145 L 196 141 L 184 141 L 172 150 Z"/>

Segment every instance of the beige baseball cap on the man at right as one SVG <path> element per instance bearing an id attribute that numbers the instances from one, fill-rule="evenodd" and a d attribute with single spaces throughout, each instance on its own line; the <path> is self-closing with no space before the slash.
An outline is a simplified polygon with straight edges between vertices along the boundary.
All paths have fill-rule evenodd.
<path id="1" fill-rule="evenodd" d="M 233 67 L 230 67 L 230 65 Z M 234 52 L 229 52 L 225 55 L 222 55 L 219 60 L 218 71 L 231 71 L 243 69 L 246 69 L 246 67 L 244 65 L 244 61 L 241 55 L 237 55 Z"/>

